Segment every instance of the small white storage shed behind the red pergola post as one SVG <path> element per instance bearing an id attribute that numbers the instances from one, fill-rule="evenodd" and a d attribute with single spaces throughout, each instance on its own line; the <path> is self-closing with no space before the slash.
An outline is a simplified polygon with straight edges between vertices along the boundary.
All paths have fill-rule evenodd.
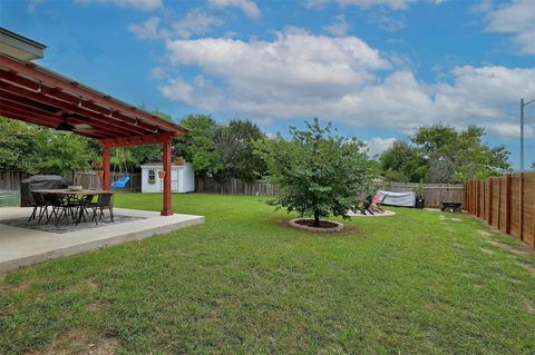
<path id="1" fill-rule="evenodd" d="M 150 162 L 142 165 L 142 193 L 162 193 L 163 179 L 158 171 L 163 171 L 162 162 Z M 193 193 L 195 191 L 195 172 L 193 165 L 171 165 L 171 190 L 173 193 Z"/>

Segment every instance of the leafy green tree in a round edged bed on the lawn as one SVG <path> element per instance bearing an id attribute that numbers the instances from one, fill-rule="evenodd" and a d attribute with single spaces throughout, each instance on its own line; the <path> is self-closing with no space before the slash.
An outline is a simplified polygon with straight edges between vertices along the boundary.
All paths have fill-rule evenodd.
<path id="1" fill-rule="evenodd" d="M 349 218 L 349 210 L 361 208 L 358 196 L 369 193 L 372 180 L 364 145 L 333 135 L 331 125 L 322 128 L 318 118 L 307 127 L 290 128 L 290 140 L 279 134 L 254 142 L 271 181 L 283 193 L 270 204 L 313 216 L 315 226 L 329 216 Z"/>

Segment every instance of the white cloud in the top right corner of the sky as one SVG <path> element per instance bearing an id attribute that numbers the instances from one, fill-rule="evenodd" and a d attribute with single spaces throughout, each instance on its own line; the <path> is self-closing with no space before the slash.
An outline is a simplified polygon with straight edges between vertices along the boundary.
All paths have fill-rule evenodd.
<path id="1" fill-rule="evenodd" d="M 523 55 L 535 55 L 535 1 L 514 0 L 497 9 L 481 2 L 483 11 L 487 11 L 487 30 L 498 33 L 510 33 Z"/>

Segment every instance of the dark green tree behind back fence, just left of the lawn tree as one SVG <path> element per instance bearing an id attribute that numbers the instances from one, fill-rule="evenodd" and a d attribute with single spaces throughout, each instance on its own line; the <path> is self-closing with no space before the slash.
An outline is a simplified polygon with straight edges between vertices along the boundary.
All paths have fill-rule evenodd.
<path id="1" fill-rule="evenodd" d="M 265 161 L 253 155 L 253 141 L 264 134 L 249 120 L 231 120 L 228 126 L 220 126 L 215 135 L 215 147 L 221 155 L 220 179 L 237 178 L 254 180 L 262 177 L 268 167 Z"/>

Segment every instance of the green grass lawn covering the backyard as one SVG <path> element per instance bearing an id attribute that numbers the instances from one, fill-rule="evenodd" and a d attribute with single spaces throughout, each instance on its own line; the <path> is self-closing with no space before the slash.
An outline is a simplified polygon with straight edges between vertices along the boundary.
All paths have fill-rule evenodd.
<path id="1" fill-rule="evenodd" d="M 401 208 L 310 234 L 264 201 L 175 195 L 206 224 L 0 276 L 0 353 L 535 354 L 535 257 L 512 238 Z"/>

